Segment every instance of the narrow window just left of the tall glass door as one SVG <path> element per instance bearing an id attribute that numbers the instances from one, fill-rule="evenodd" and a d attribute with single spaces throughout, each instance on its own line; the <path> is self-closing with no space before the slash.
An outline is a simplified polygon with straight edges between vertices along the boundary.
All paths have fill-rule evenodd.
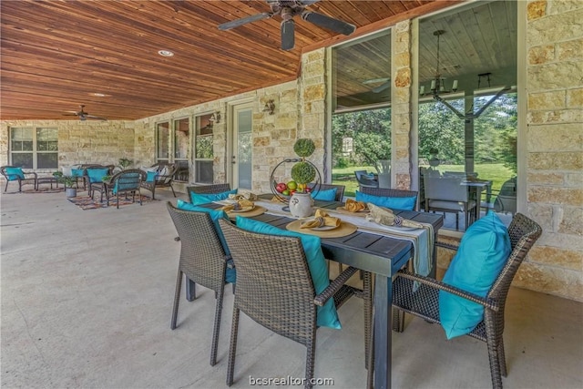
<path id="1" fill-rule="evenodd" d="M 194 181 L 201 184 L 213 182 L 213 120 L 211 117 L 212 115 L 209 114 L 197 118 L 194 138 Z"/>

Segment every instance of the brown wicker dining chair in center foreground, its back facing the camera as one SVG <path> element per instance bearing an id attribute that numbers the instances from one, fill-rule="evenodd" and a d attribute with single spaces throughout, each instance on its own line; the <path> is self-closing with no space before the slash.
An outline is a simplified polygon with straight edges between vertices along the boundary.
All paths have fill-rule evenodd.
<path id="1" fill-rule="evenodd" d="M 233 383 L 240 312 L 263 327 L 307 348 L 305 388 L 311 388 L 316 345 L 316 307 L 330 298 L 342 305 L 354 289 L 344 285 L 354 274 L 349 267 L 316 295 L 302 242 L 296 237 L 241 230 L 219 220 L 237 267 L 227 384 Z M 281 372 L 279 372 L 281 373 Z"/>

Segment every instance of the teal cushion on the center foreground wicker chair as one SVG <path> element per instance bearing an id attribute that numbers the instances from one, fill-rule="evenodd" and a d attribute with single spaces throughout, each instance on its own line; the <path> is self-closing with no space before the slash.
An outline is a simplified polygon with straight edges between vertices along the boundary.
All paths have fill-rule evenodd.
<path id="1" fill-rule="evenodd" d="M 237 226 L 243 230 L 250 230 L 252 232 L 300 238 L 302 240 L 303 251 L 305 251 L 306 254 L 308 268 L 312 275 L 313 287 L 316 293 L 321 293 L 328 287 L 328 285 L 330 285 L 330 280 L 328 279 L 328 266 L 326 265 L 326 260 L 322 252 L 322 241 L 319 237 L 289 230 L 280 230 L 270 224 L 240 216 L 237 217 Z M 317 324 L 321 327 L 331 327 L 338 330 L 342 328 L 333 299 L 328 300 L 328 302 L 322 307 L 318 307 L 316 319 Z"/>

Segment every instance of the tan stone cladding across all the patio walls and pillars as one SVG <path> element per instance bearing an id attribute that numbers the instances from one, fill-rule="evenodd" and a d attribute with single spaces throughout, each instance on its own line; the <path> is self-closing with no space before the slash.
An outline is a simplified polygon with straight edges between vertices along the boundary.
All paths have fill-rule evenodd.
<path id="1" fill-rule="evenodd" d="M 529 2 L 524 19 L 527 20 L 527 133 L 519 139 L 519 147 L 527 150 L 526 212 L 542 225 L 544 233 L 520 267 L 514 284 L 583 301 L 583 2 Z M 413 166 L 410 26 L 410 21 L 404 21 L 393 31 L 392 165 L 396 186 L 401 189 L 410 187 Z M 253 101 L 252 189 L 269 191 L 271 169 L 281 159 L 294 156 L 296 138 L 314 140 L 318 148 L 310 160 L 323 172 L 324 138 L 329 131 L 325 120 L 324 53 L 324 49 L 319 49 L 304 54 L 302 76 L 296 81 L 135 122 L 3 122 L 0 163 L 7 161 L 8 126 L 46 126 L 59 128 L 59 149 L 64 153 L 61 165 L 76 161 L 115 163 L 132 150 L 133 158 L 123 156 L 135 159 L 137 166 L 148 165 L 155 161 L 156 123 L 220 111 L 221 121 L 214 131 L 214 179 L 225 182 L 230 163 L 226 125 L 230 104 Z M 274 115 L 261 111 L 269 99 L 275 103 Z M 133 138 L 126 137 L 122 131 L 132 133 Z M 289 169 L 281 175 L 289 177 Z M 439 250 L 440 272 L 450 260 L 451 253 Z"/>

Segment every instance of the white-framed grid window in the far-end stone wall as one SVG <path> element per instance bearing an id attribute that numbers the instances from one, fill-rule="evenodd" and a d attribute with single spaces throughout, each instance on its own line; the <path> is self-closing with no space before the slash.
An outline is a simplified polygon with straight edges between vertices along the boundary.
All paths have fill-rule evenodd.
<path id="1" fill-rule="evenodd" d="M 10 128 L 10 159 L 22 168 L 58 168 L 58 129 Z"/>

